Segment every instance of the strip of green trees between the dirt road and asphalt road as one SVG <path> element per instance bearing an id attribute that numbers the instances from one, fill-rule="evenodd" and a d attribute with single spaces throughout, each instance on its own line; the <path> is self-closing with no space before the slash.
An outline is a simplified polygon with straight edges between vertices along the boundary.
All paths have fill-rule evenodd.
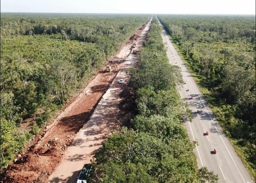
<path id="1" fill-rule="evenodd" d="M 169 64 L 160 32 L 154 18 L 138 53 L 138 67 L 129 71 L 137 115 L 131 127 L 109 136 L 96 154 L 96 182 L 218 180 L 205 167 L 197 169 L 195 145 L 183 126 L 182 100 L 175 90 L 180 70 Z"/>

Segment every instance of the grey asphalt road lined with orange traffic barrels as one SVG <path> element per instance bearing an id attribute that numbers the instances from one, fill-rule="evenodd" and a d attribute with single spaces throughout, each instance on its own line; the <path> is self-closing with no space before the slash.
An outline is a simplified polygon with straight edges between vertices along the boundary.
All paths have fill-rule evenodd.
<path id="1" fill-rule="evenodd" d="M 198 166 L 206 166 L 208 170 L 217 173 L 220 183 L 253 183 L 164 29 L 161 34 L 166 43 L 170 64 L 181 68 L 183 80 L 186 82 L 178 87 L 178 91 L 193 112 L 192 122 L 186 119 L 185 125 L 190 139 L 197 140 L 199 144 L 194 150 Z M 190 99 L 191 96 L 193 99 Z M 205 135 L 206 131 L 209 135 Z M 216 154 L 213 153 L 214 149 L 217 150 Z"/>

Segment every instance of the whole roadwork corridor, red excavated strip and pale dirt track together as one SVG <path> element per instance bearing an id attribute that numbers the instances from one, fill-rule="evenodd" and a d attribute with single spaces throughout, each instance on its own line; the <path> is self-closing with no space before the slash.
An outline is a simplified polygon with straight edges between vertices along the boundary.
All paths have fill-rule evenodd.
<path id="1" fill-rule="evenodd" d="M 46 124 L 42 134 L 34 136 L 25 151 L 19 154 L 15 162 L 9 165 L 4 172 L 4 182 L 46 182 L 48 177 L 50 177 L 49 182 L 74 182 L 77 179 L 76 174 L 72 175 L 74 172 L 65 173 L 67 176 L 61 178 L 58 175 L 63 172 L 57 171 L 56 173 L 56 168 L 63 161 L 67 161 L 66 151 L 71 149 L 73 151 L 73 148 L 87 140 L 87 146 L 92 147 L 91 150 L 88 149 L 90 154 L 84 152 L 88 156 L 76 156 L 68 161 L 76 162 L 82 159 L 80 164 L 90 162 L 107 136 L 113 130 L 120 129 L 133 116 L 133 111 L 130 110 L 133 109 L 131 106 L 134 105 L 134 101 L 132 101 L 132 94 L 127 82 L 124 85 L 119 85 L 118 80 L 128 79 L 126 71 L 135 65 L 135 53 L 143 46 L 149 24 L 150 20 L 130 38 L 115 57 L 108 60 L 105 67 L 82 91 L 67 102 L 65 108 L 56 114 L 55 119 Z M 116 88 L 111 89 L 113 87 Z M 100 107 L 102 101 L 107 106 L 101 106 L 105 109 L 104 111 L 97 109 L 101 118 L 97 114 L 96 117 L 93 117 L 92 114 L 95 114 L 97 106 Z M 103 117 L 104 119 L 102 119 Z M 80 129 L 90 129 L 85 136 L 93 140 L 78 138 Z M 76 166 L 78 170 L 81 169 L 77 165 L 72 166 Z M 68 168 L 71 167 L 68 166 Z M 58 168 L 58 170 L 60 169 Z"/>

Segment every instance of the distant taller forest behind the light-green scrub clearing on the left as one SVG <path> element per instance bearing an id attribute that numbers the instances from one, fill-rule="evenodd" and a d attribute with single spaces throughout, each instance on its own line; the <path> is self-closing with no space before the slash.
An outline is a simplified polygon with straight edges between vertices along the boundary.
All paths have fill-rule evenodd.
<path id="1" fill-rule="evenodd" d="M 146 18 L 146 15 L 129 14 L 1 13 L 0 35 L 60 34 L 63 40 L 96 43 L 101 51 L 111 53 L 124 44 Z"/>

